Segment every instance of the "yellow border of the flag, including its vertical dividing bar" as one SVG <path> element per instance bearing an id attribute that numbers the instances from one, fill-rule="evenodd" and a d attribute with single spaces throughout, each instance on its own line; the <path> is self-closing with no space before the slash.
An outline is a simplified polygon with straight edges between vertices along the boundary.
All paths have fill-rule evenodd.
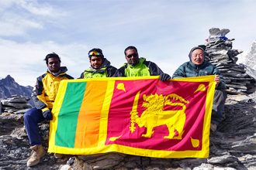
<path id="1" fill-rule="evenodd" d="M 213 96 L 216 82 L 213 81 L 213 76 L 196 76 L 179 79 L 171 79 L 171 81 L 180 82 L 209 82 L 209 88 L 207 90 L 206 97 L 206 114 L 204 117 L 203 131 L 202 131 L 202 150 L 201 151 L 159 151 L 142 148 L 132 148 L 123 145 L 105 145 L 107 125 L 110 102 L 112 100 L 112 93 L 116 80 L 148 80 L 159 79 L 160 76 L 137 76 L 137 77 L 107 77 L 107 78 L 92 78 L 92 79 L 78 79 L 78 80 L 62 80 L 59 92 L 55 100 L 54 108 L 52 110 L 54 114 L 53 121 L 50 121 L 50 135 L 49 135 L 49 148 L 48 152 L 64 153 L 68 155 L 94 155 L 99 153 L 106 153 L 117 151 L 129 155 L 147 156 L 155 158 L 208 158 L 209 157 L 209 127 L 211 112 L 213 107 Z M 102 81 L 108 80 L 107 93 L 104 100 L 104 107 L 102 107 L 102 116 L 99 129 L 99 144 L 95 148 L 65 148 L 55 146 L 55 132 L 57 130 L 57 116 L 61 110 L 61 104 L 64 99 L 64 92 L 67 88 L 67 83 L 70 82 L 85 82 L 85 81 Z M 105 118 L 104 118 L 105 117 Z"/>

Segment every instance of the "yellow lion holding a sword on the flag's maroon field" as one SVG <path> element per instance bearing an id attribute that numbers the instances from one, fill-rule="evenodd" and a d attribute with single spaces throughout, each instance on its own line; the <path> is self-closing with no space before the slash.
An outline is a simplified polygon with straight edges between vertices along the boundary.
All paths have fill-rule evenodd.
<path id="1" fill-rule="evenodd" d="M 142 134 L 144 138 L 151 138 L 151 135 L 154 134 L 153 128 L 166 124 L 169 134 L 164 136 L 168 139 L 178 139 L 182 140 L 182 134 L 184 133 L 184 124 L 185 124 L 185 104 L 189 104 L 189 100 L 184 100 L 182 97 L 178 96 L 175 93 L 171 93 L 167 96 L 158 95 L 157 93 L 150 94 L 149 96 L 143 95 L 144 103 L 142 107 L 147 107 L 147 110 L 138 116 L 137 104 L 140 96 L 140 91 L 137 93 L 134 102 L 133 110 L 131 114 L 131 127 L 130 131 L 133 133 L 135 131 L 134 124 L 138 124 L 140 128 L 147 128 L 147 133 Z M 172 100 L 172 101 L 171 101 Z M 180 102 L 178 102 L 178 100 Z M 174 102 L 176 101 L 176 102 Z M 164 106 L 180 106 L 180 110 L 163 110 Z M 178 136 L 175 136 L 178 131 Z"/>

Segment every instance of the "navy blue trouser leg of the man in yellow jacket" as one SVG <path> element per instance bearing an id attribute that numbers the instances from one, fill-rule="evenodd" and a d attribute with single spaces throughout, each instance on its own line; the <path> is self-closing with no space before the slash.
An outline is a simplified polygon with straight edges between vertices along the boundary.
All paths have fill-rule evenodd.
<path id="1" fill-rule="evenodd" d="M 36 107 L 27 110 L 24 114 L 24 124 L 26 132 L 29 135 L 29 142 L 31 146 L 42 145 L 38 123 L 43 120 L 45 120 L 45 118 L 43 117 L 42 111 L 37 110 Z"/>

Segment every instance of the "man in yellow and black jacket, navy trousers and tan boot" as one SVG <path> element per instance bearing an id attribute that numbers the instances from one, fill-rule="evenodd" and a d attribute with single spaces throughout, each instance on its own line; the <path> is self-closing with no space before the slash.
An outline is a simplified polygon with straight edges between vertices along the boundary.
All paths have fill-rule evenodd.
<path id="1" fill-rule="evenodd" d="M 38 164 L 40 158 L 46 154 L 42 146 L 38 123 L 53 119 L 51 109 L 54 107 L 54 100 L 61 80 L 74 79 L 66 74 L 67 67 L 61 66 L 61 59 L 56 53 L 47 54 L 44 60 L 48 70 L 42 76 L 37 77 L 32 92 L 32 99 L 36 107 L 24 114 L 24 124 L 29 135 L 30 148 L 33 150 L 27 166 Z"/>

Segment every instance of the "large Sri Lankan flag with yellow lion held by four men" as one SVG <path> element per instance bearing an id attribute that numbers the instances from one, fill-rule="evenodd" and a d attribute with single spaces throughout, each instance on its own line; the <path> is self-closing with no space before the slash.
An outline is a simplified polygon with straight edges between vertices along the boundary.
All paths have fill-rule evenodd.
<path id="1" fill-rule="evenodd" d="M 208 158 L 213 79 L 62 80 L 48 152 Z"/>

